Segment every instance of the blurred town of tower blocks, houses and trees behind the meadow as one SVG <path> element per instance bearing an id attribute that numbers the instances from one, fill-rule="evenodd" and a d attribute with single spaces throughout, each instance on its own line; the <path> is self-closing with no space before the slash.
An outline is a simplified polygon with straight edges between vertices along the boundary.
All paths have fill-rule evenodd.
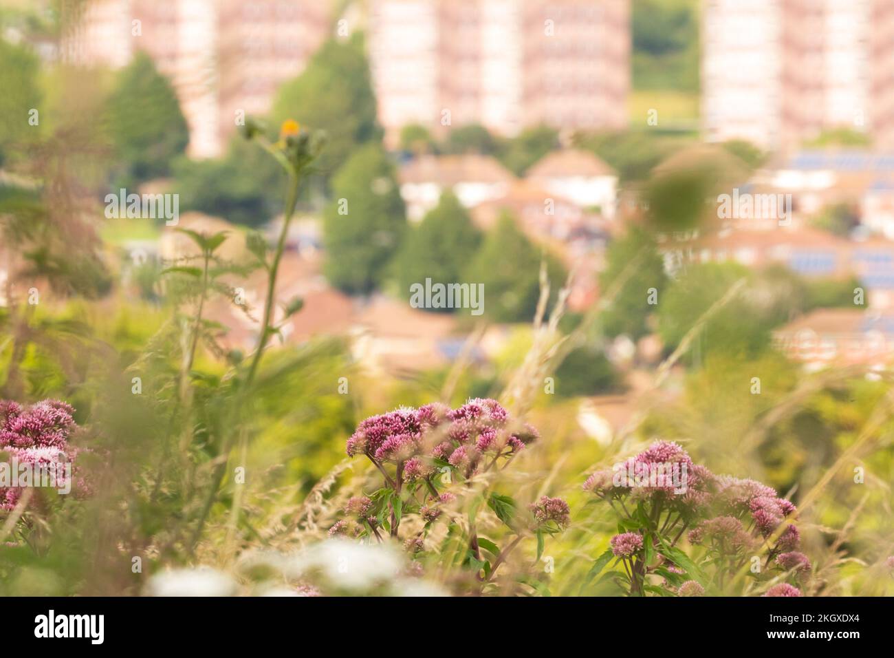
<path id="1" fill-rule="evenodd" d="M 102 243 L 69 291 L 152 303 L 189 256 L 164 218 L 103 218 L 121 189 L 177 195 L 178 226 L 231 231 L 233 259 L 249 230 L 273 241 L 283 181 L 237 131 L 293 117 L 331 141 L 288 236 L 287 344 L 350 336 L 370 372 L 413 378 L 474 335 L 487 380 L 524 343 L 544 257 L 553 290 L 572 273 L 570 325 L 645 249 L 563 393 L 625 406 L 741 276 L 765 279 L 759 312 L 695 358 L 721 335 L 809 369 L 894 349 L 890 0 L 7 0 L 0 56 L 7 202 L 35 162 L 81 166 L 59 193 Z M 5 289 L 29 257 L 3 252 Z M 484 283 L 484 321 L 411 308 L 428 277 Z M 263 278 L 244 285 L 257 305 Z M 210 313 L 224 346 L 253 345 L 250 313 Z"/>

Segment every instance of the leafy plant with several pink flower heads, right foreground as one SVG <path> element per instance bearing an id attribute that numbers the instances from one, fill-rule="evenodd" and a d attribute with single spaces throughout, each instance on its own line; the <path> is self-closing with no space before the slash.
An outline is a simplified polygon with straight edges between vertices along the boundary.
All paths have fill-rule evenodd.
<path id="1" fill-rule="evenodd" d="M 763 595 L 800 596 L 810 575 L 789 500 L 754 480 L 712 474 L 676 443 L 656 441 L 591 474 L 584 489 L 618 517 L 618 534 L 587 576 L 591 583 L 602 574 L 597 588 L 698 596 L 772 584 Z"/>

